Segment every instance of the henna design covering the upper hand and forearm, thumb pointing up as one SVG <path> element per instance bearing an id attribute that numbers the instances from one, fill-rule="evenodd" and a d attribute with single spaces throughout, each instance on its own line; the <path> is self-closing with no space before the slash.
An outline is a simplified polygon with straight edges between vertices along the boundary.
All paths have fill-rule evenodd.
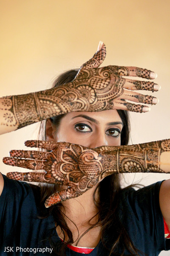
<path id="1" fill-rule="evenodd" d="M 76 78 L 67 84 L 36 93 L 8 96 L 0 99 L 3 107 L 3 123 L 21 128 L 34 122 L 71 111 L 103 111 L 109 109 L 125 109 L 142 112 L 142 107 L 117 104 L 116 99 L 123 97 L 124 88 L 130 90 L 154 90 L 152 82 L 134 81 L 122 76 L 139 76 L 153 79 L 154 73 L 139 67 L 100 67 L 106 55 L 105 44 L 94 56 L 82 65 Z M 131 80 L 133 81 L 133 80 Z M 129 91 L 130 94 L 130 91 Z M 132 96 L 132 95 L 131 95 Z M 144 97 L 144 96 L 143 96 Z M 148 96 L 149 97 L 149 96 Z M 152 104 L 153 97 L 139 102 Z M 131 97 L 130 100 L 134 100 Z M 146 107 L 147 108 L 147 107 Z"/>

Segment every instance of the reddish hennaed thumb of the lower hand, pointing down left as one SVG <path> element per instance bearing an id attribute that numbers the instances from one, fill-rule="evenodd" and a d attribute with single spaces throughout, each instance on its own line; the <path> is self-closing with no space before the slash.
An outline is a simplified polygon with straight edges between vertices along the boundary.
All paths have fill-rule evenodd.
<path id="1" fill-rule="evenodd" d="M 58 204 L 59 202 L 65 201 L 66 199 L 78 197 L 82 194 L 83 192 L 79 190 L 75 191 L 71 187 L 68 187 L 67 189 L 56 192 L 52 194 L 49 198 L 47 198 L 47 200 L 45 201 L 45 207 L 51 207 L 54 204 Z"/>

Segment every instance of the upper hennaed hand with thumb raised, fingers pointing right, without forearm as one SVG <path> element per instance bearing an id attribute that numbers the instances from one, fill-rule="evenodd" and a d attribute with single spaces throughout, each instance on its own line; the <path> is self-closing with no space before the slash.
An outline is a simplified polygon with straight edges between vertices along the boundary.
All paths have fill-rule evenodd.
<path id="1" fill-rule="evenodd" d="M 66 84 L 63 88 L 54 89 L 54 94 L 59 93 L 61 99 L 66 99 L 65 108 L 69 112 L 108 109 L 146 112 L 149 111 L 147 106 L 127 103 L 124 100 L 144 104 L 158 103 L 158 99 L 153 96 L 133 92 L 133 90 L 157 91 L 159 89 L 158 84 L 122 77 L 135 76 L 154 79 L 156 73 L 138 67 L 108 66 L 99 68 L 105 55 L 105 44 L 102 44 L 102 48 L 82 65 L 78 75 L 71 83 Z"/>

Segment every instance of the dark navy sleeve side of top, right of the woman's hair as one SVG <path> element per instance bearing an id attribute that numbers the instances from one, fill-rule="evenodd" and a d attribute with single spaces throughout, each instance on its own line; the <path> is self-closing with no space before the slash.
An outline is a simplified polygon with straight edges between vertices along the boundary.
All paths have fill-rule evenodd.
<path id="1" fill-rule="evenodd" d="M 144 249 L 148 255 L 154 255 L 151 251 L 170 250 L 170 240 L 164 238 L 160 186 L 161 182 L 157 182 L 138 190 L 125 189 L 120 202 L 120 214 L 127 233 L 136 247 Z"/>

